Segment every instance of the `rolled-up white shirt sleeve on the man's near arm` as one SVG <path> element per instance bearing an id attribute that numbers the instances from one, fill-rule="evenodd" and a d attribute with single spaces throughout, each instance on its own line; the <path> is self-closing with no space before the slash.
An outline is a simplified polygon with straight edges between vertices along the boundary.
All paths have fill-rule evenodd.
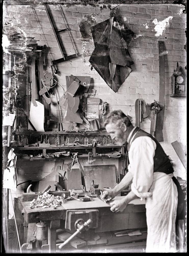
<path id="1" fill-rule="evenodd" d="M 131 190 L 140 198 L 152 195 L 148 191 L 153 183 L 155 149 L 156 143 L 147 136 L 140 136 L 131 143 L 128 166 L 133 174 Z"/>

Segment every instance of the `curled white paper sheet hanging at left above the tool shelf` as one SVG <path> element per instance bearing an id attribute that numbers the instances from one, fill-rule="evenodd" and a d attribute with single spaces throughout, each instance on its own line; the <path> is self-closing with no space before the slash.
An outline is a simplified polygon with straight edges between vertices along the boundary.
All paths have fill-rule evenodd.
<path id="1" fill-rule="evenodd" d="M 37 106 L 31 102 L 29 120 L 37 132 L 44 132 L 44 105 L 36 101 Z"/>

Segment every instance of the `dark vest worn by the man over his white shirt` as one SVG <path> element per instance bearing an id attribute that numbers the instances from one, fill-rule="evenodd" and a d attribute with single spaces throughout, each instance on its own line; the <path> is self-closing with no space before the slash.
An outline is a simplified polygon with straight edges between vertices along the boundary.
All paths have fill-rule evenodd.
<path id="1" fill-rule="evenodd" d="M 160 143 L 151 134 L 149 134 L 143 130 L 140 130 L 138 127 L 136 127 L 136 129 L 134 130 L 133 134 L 130 137 L 130 140 L 129 140 L 128 146 L 127 146 L 128 152 L 129 152 L 131 143 L 136 138 L 141 137 L 141 136 L 150 137 L 156 144 L 156 150 L 155 150 L 155 156 L 154 156 L 154 172 L 162 172 L 162 173 L 166 173 L 166 174 L 173 173 L 174 170 L 173 170 L 171 161 L 170 161 L 169 157 L 165 154 Z M 130 143 L 132 138 L 133 138 L 133 140 Z"/>

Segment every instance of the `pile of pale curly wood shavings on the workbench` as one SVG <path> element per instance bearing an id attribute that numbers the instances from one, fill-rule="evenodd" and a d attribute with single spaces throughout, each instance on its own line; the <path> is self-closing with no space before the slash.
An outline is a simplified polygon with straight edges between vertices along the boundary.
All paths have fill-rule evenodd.
<path id="1" fill-rule="evenodd" d="M 62 203 L 64 203 L 64 199 L 62 196 L 54 196 L 50 195 L 48 193 L 44 193 L 43 195 L 40 195 L 37 197 L 37 199 L 33 199 L 30 202 L 29 208 L 37 208 L 37 207 L 53 207 L 54 209 L 57 206 L 60 206 Z"/>

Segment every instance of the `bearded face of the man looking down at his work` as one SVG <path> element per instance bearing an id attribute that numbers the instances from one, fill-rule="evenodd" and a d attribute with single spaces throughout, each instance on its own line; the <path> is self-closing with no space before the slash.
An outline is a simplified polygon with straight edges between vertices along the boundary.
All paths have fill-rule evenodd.
<path id="1" fill-rule="evenodd" d="M 106 125 L 106 131 L 110 134 L 111 139 L 113 142 L 115 142 L 117 145 L 122 146 L 125 144 L 127 138 L 124 131 L 124 126 L 115 123 L 109 123 Z"/>

